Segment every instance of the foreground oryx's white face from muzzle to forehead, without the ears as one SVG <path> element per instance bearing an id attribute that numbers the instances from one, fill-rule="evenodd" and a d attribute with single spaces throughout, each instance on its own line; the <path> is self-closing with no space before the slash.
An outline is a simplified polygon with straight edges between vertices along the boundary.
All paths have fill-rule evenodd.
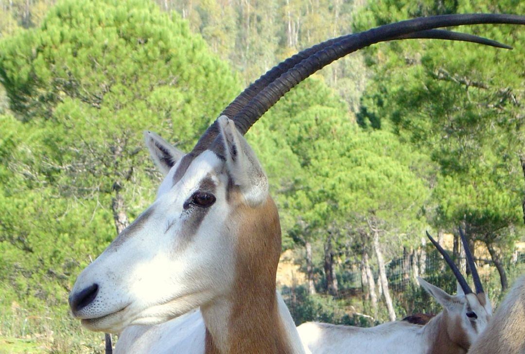
<path id="1" fill-rule="evenodd" d="M 90 289 L 87 298 L 95 298 L 72 309 L 88 329 L 119 332 L 131 324 L 163 322 L 230 286 L 235 240 L 228 232 L 225 163 L 205 151 L 174 184 L 177 167 L 155 202 L 79 275 L 71 294 Z M 197 205 L 196 196 L 201 204 L 212 197 L 215 202 Z"/>

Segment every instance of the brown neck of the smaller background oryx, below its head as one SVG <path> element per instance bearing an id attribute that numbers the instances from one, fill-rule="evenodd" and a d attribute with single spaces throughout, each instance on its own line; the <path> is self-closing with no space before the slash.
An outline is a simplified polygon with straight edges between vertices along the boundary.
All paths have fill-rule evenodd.
<path id="1" fill-rule="evenodd" d="M 425 334 L 430 340 L 429 354 L 465 354 L 470 343 L 459 319 L 455 319 L 444 309 L 425 325 Z"/>

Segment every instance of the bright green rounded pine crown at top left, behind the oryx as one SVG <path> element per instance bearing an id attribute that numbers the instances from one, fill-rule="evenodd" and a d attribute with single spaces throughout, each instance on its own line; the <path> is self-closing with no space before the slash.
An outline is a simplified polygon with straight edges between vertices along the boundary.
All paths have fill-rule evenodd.
<path id="1" fill-rule="evenodd" d="M 106 115 L 132 109 L 121 125 L 137 129 L 171 120 L 189 140 L 195 124 L 186 117 L 202 129 L 237 83 L 224 63 L 207 54 L 202 38 L 172 18 L 144 1 L 54 7 L 41 28 L 2 41 L 1 77 L 13 111 L 27 119 L 51 118 L 68 103 Z"/>

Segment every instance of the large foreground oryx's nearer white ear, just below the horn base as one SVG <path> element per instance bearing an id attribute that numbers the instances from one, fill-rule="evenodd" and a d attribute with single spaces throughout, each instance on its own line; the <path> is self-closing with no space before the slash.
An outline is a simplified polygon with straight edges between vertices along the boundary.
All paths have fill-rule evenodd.
<path id="1" fill-rule="evenodd" d="M 257 206 L 268 196 L 268 179 L 248 142 L 226 116 L 218 118 L 224 144 L 226 166 L 234 185 L 239 186 L 246 203 Z"/>

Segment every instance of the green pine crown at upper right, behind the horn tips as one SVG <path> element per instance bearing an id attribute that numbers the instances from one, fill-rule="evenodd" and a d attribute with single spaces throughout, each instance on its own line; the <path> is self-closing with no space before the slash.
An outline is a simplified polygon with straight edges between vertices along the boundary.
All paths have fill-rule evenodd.
<path id="1" fill-rule="evenodd" d="M 515 1 L 386 1 L 363 9 L 355 27 L 430 14 L 520 9 L 523 4 Z M 520 103 L 525 76 L 509 68 L 522 66 L 525 37 L 512 26 L 474 26 L 471 32 L 515 48 L 414 41 L 367 51 L 376 74 L 362 99 L 359 122 L 393 131 L 439 165 L 433 181 L 435 209 L 429 214 L 436 226 L 452 228 L 465 221 L 474 237 L 501 240 L 512 234 L 505 229 L 522 224 L 523 216 L 519 159 L 525 137 Z"/>

